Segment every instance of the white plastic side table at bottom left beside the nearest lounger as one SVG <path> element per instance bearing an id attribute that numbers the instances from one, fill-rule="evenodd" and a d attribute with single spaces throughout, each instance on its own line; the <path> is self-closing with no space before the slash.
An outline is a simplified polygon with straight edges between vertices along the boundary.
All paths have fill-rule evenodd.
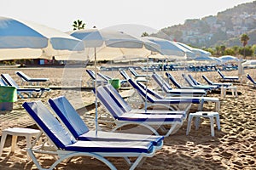
<path id="1" fill-rule="evenodd" d="M 39 130 L 32 129 L 32 128 L 13 127 L 13 128 L 4 129 L 2 133 L 1 144 L 0 144 L 0 156 L 2 156 L 3 146 L 5 144 L 5 139 L 8 134 L 12 135 L 11 152 L 14 152 L 18 136 L 25 136 L 26 148 L 30 148 L 32 144 L 32 136 L 37 136 L 38 133 L 40 133 Z M 30 156 L 28 156 L 28 154 L 27 154 L 27 160 L 28 161 L 30 160 Z"/>

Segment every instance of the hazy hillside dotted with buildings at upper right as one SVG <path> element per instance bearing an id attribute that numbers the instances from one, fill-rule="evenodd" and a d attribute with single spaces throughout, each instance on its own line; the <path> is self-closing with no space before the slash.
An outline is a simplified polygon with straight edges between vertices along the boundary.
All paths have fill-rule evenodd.
<path id="1" fill-rule="evenodd" d="M 160 33 L 161 32 L 161 33 Z M 195 47 L 215 47 L 216 45 L 241 46 L 240 36 L 250 37 L 248 45 L 256 44 L 256 1 L 229 8 L 217 15 L 202 19 L 185 20 L 183 25 L 170 26 L 153 36 L 184 42 Z"/>

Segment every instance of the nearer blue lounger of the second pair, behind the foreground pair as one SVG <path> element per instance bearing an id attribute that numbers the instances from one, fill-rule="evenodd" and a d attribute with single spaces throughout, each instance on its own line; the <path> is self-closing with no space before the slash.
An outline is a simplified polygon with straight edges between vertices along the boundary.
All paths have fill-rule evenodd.
<path id="1" fill-rule="evenodd" d="M 108 93 L 103 86 L 97 88 L 97 98 L 100 100 L 106 110 L 113 116 L 114 122 L 117 125 L 113 131 L 127 125 L 139 125 L 148 128 L 154 134 L 159 133 L 154 128 L 166 129 L 167 125 L 169 130 L 166 131 L 165 136 L 177 132 L 177 129 L 182 126 L 184 116 L 181 115 L 167 115 L 167 114 L 141 114 L 123 111 L 112 96 Z M 171 127 L 170 127 L 171 126 Z"/>

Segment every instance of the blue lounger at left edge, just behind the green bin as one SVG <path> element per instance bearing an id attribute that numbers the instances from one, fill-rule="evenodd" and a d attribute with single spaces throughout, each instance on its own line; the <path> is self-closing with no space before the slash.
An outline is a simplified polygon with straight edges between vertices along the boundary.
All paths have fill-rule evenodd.
<path id="1" fill-rule="evenodd" d="M 27 94 L 28 98 L 31 98 L 32 96 L 41 97 L 44 92 L 50 91 L 49 88 L 20 88 L 14 79 L 9 76 L 9 74 L 1 74 L 1 77 L 9 86 L 17 88 L 17 94 L 20 96 L 20 98 L 24 98 L 23 94 Z"/>

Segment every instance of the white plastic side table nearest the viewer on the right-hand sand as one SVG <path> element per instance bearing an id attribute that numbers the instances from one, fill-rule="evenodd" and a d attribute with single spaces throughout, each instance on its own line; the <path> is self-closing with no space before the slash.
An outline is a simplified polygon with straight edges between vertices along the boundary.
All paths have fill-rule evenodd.
<path id="1" fill-rule="evenodd" d="M 219 122 L 219 115 L 218 112 L 209 112 L 209 111 L 197 111 L 195 113 L 189 113 L 189 120 L 188 120 L 188 127 L 187 127 L 187 135 L 189 135 L 190 129 L 191 129 L 191 122 L 193 120 L 193 117 L 195 117 L 195 129 L 197 130 L 200 126 L 200 118 L 201 117 L 208 117 L 211 122 L 211 134 L 212 137 L 214 136 L 214 120 L 213 118 L 216 118 L 217 127 L 218 130 L 220 130 L 220 122 Z"/>

